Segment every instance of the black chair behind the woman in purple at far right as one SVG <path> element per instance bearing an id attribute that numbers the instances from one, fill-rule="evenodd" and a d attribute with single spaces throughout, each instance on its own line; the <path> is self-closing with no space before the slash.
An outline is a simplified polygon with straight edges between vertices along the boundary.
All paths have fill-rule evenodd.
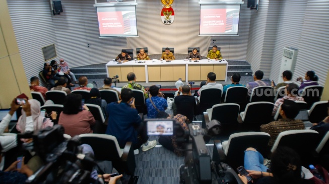
<path id="1" fill-rule="evenodd" d="M 321 85 L 310 85 L 303 89 L 301 96 L 304 98 L 304 101 L 308 104 L 308 109 L 310 109 L 315 102 L 321 100 L 323 92 L 323 86 Z"/>

